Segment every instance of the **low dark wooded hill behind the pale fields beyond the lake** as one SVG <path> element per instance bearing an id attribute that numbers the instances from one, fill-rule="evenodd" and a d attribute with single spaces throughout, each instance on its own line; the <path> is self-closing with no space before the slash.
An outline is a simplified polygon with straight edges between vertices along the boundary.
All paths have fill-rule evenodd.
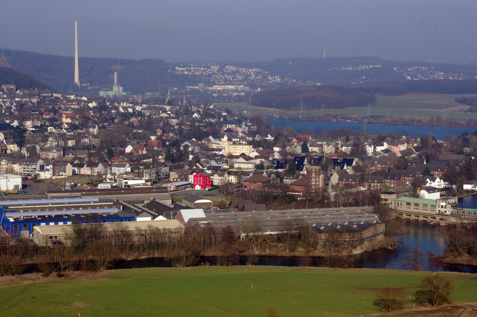
<path id="1" fill-rule="evenodd" d="M 305 110 L 319 109 L 321 104 L 324 104 L 325 109 L 342 109 L 364 107 L 368 104 L 373 106 L 376 102 L 375 95 L 405 94 L 477 94 L 477 80 L 408 80 L 354 85 L 319 85 L 260 91 L 254 95 L 253 99 L 255 106 L 274 107 L 273 103 L 275 103 L 277 109 L 298 109 L 301 107 L 301 102 Z"/>

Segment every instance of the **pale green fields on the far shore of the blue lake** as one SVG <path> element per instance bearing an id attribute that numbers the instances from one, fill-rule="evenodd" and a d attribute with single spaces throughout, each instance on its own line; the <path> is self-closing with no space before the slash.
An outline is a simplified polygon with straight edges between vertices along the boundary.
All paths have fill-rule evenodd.
<path id="1" fill-rule="evenodd" d="M 477 120 L 477 115 L 465 113 L 468 106 L 459 104 L 454 101 L 458 96 L 473 96 L 473 95 L 425 95 L 425 94 L 412 94 L 402 96 L 380 96 L 377 95 L 377 105 L 369 107 L 369 114 L 371 116 L 413 116 L 428 118 L 431 115 L 443 116 L 446 118 L 456 119 L 468 119 L 472 118 Z M 275 110 L 272 108 L 248 106 L 247 103 L 218 103 L 218 107 L 225 109 L 228 107 L 232 111 L 247 111 L 258 112 L 265 114 L 277 114 L 282 113 L 284 115 L 293 115 L 300 113 L 301 111 L 287 111 L 287 110 Z M 324 113 L 342 113 L 350 116 L 367 116 L 368 108 L 346 108 L 346 109 L 325 109 L 303 111 L 305 114 L 321 115 Z"/>

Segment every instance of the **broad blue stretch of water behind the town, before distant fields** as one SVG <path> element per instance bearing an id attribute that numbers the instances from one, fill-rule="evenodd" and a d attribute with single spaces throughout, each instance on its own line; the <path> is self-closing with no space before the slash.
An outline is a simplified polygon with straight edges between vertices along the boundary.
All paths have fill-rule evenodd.
<path id="1" fill-rule="evenodd" d="M 303 121 L 303 120 L 286 120 L 286 119 L 268 119 L 271 124 L 279 127 L 292 126 L 297 132 L 307 130 L 308 127 L 314 127 L 317 132 L 326 129 L 346 128 L 354 131 L 363 131 L 363 123 L 342 122 L 342 121 Z M 431 127 L 431 126 L 406 126 L 406 125 L 390 125 L 378 123 L 366 123 L 366 132 L 369 134 L 389 131 L 394 134 L 401 135 L 405 130 L 411 136 L 426 135 L 431 132 L 433 136 L 443 139 L 445 136 L 452 137 L 460 135 L 464 131 L 474 131 L 475 128 L 469 127 Z"/>

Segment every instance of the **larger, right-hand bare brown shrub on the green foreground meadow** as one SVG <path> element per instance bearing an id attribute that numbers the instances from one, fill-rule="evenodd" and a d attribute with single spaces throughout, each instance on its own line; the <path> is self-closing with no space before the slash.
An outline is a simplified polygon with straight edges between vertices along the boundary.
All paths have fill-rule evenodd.
<path id="1" fill-rule="evenodd" d="M 453 289 L 454 286 L 448 279 L 440 275 L 427 276 L 422 280 L 421 289 L 416 292 L 416 300 L 438 306 L 449 302 Z"/>

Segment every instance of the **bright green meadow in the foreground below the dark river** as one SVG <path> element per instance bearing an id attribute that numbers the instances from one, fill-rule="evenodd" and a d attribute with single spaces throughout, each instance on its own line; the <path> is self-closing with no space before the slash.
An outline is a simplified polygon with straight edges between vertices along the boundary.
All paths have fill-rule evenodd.
<path id="1" fill-rule="evenodd" d="M 278 317 L 357 316 L 378 312 L 372 305 L 378 289 L 403 287 L 411 296 L 430 274 L 272 266 L 120 270 L 105 280 L 3 287 L 0 316 L 267 317 L 267 307 Z M 476 277 L 441 274 L 455 286 L 454 302 L 477 301 Z"/>

